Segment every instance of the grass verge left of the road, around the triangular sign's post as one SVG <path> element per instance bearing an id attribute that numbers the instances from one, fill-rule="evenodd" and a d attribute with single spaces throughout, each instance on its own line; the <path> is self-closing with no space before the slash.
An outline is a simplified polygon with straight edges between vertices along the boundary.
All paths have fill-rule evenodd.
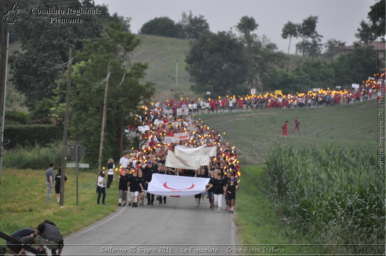
<path id="1" fill-rule="evenodd" d="M 56 174 L 56 170 L 54 170 Z M 60 227 L 61 234 L 79 231 L 103 219 L 117 209 L 117 182 L 106 189 L 106 205 L 97 205 L 97 174 L 79 172 L 79 206 L 76 206 L 76 171 L 66 168 L 68 182 L 64 190 L 64 209 L 56 202 L 55 190 L 51 202 L 46 203 L 46 170 L 2 171 L 0 191 L 0 230 L 6 234 L 24 228 L 35 229 L 44 219 L 50 219 Z M 114 193 L 113 193 L 114 192 Z M 0 240 L 0 243 L 3 243 Z"/>

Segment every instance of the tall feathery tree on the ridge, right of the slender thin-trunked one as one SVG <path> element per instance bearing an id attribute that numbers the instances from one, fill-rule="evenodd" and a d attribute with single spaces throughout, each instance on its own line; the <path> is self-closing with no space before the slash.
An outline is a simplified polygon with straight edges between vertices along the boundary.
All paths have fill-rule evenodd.
<path id="1" fill-rule="evenodd" d="M 298 35 L 302 38 L 301 42 L 296 44 L 303 56 L 315 57 L 320 53 L 322 44 L 320 39 L 323 37 L 316 31 L 318 16 L 310 16 L 303 19 L 303 22 L 298 26 Z M 311 40 L 311 41 L 309 41 Z"/>

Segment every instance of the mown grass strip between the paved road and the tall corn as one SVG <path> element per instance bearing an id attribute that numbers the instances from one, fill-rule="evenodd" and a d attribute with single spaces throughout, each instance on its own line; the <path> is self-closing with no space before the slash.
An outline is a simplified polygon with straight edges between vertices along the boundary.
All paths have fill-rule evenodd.
<path id="1" fill-rule="evenodd" d="M 266 182 L 263 165 L 244 166 L 240 180 L 234 213 L 240 244 L 259 244 L 247 247 L 261 249 L 261 253 L 263 247 L 284 249 L 286 254 L 320 253 L 318 247 L 288 245 L 306 242 L 301 233 L 286 229 L 271 200 L 262 191 L 261 185 Z M 245 247 L 240 246 L 243 251 Z"/>

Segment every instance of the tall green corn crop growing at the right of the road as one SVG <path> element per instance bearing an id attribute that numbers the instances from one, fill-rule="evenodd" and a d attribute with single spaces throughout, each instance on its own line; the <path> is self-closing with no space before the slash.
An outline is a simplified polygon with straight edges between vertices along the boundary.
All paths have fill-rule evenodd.
<path id="1" fill-rule="evenodd" d="M 337 253 L 375 253 L 385 239 L 385 178 L 376 153 L 323 146 L 294 150 L 276 144 L 266 162 L 266 191 L 292 228 Z M 334 246 L 333 246 L 334 247 Z M 325 248 L 328 250 L 328 248 Z M 378 247 L 384 253 L 384 246 Z"/>

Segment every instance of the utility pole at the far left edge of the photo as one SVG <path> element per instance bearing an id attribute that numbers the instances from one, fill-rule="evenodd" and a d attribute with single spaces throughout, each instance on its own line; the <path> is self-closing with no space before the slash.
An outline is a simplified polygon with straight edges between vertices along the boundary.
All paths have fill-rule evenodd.
<path id="1" fill-rule="evenodd" d="M 8 0 L 4 0 L 3 13 L 8 11 Z M 1 191 L 1 174 L 2 174 L 2 164 L 3 164 L 3 139 L 4 139 L 4 115 L 5 115 L 5 93 L 7 87 L 7 63 L 8 63 L 8 24 L 5 22 L 3 16 L 2 24 L 2 40 L 1 40 L 1 56 L 0 56 L 0 113 L 2 118 L 0 118 L 0 191 Z"/>

